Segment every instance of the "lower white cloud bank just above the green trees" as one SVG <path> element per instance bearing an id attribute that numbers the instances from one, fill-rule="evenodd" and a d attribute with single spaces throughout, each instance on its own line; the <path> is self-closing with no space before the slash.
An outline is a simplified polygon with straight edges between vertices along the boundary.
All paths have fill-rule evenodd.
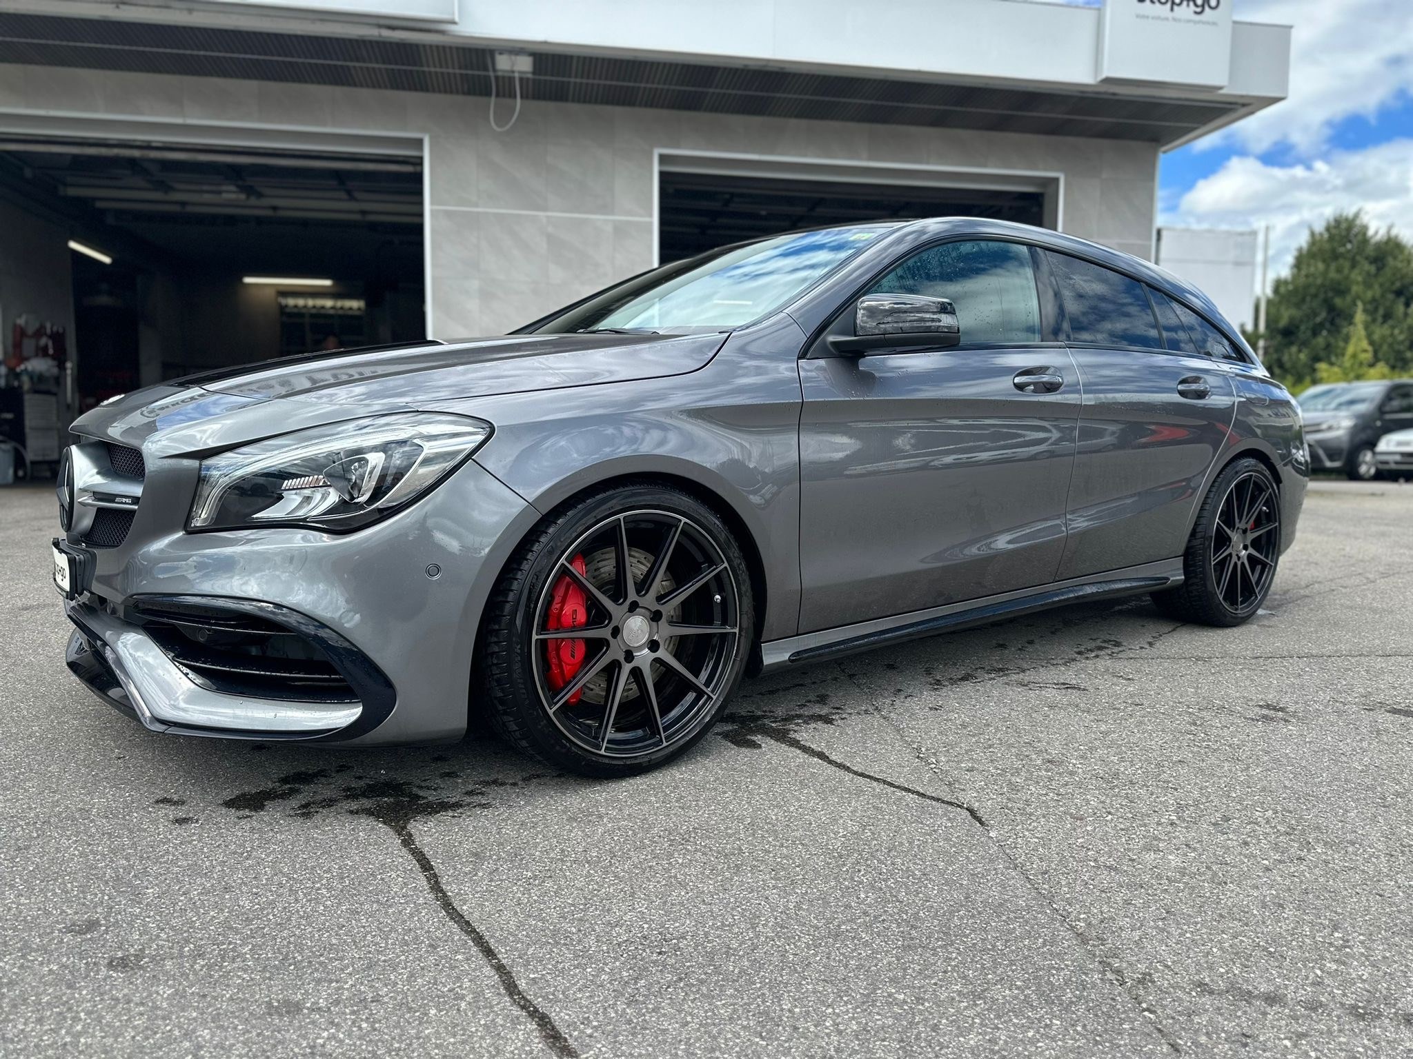
<path id="1" fill-rule="evenodd" d="M 1270 268 L 1279 275 L 1290 267 L 1311 226 L 1355 209 L 1375 227 L 1392 225 L 1405 239 L 1413 239 L 1413 140 L 1390 140 L 1293 165 L 1267 165 L 1249 155 L 1229 158 L 1194 184 L 1161 223 L 1270 225 Z"/>

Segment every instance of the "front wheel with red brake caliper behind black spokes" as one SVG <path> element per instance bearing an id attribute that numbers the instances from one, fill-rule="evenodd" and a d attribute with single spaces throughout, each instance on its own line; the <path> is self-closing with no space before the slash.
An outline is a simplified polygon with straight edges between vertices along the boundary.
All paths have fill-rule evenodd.
<path id="1" fill-rule="evenodd" d="M 574 626 L 567 592 L 582 600 Z M 633 775 L 715 724 L 753 634 L 750 572 L 716 513 L 673 487 L 623 484 L 551 514 L 520 545 L 486 607 L 475 686 L 521 751 L 581 775 Z"/>

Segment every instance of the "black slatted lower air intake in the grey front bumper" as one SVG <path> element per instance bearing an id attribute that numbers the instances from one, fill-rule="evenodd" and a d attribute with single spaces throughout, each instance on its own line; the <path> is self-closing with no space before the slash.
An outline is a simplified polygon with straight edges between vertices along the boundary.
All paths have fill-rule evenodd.
<path id="1" fill-rule="evenodd" d="M 143 604 L 150 635 L 196 683 L 226 695 L 290 702 L 357 702 L 314 640 L 253 614 L 201 604 Z"/>

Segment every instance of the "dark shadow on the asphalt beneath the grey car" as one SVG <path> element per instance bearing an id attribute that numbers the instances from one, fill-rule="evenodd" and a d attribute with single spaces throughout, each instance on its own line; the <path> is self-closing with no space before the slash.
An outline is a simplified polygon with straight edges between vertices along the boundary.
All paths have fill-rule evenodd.
<path id="1" fill-rule="evenodd" d="M 974 682 L 1010 679 L 1023 688 L 1037 672 L 1147 650 L 1174 628 L 1146 599 L 1099 602 L 747 679 L 718 727 L 667 768 L 691 770 L 702 754 L 755 748 L 762 738 L 811 753 L 804 741 L 811 727 L 845 724 L 903 698 Z M 212 812 L 290 819 L 353 813 L 398 830 L 418 819 L 504 805 L 530 789 L 615 782 L 558 774 L 507 747 L 483 722 L 473 722 L 461 743 L 439 747 L 174 738 L 162 757 L 172 792 L 154 805 L 175 826 Z"/>

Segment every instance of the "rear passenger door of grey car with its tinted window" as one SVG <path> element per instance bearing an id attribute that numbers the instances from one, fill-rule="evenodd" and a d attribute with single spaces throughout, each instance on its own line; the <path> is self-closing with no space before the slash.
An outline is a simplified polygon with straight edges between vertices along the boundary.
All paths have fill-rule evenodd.
<path id="1" fill-rule="evenodd" d="M 1161 291 L 1068 254 L 1044 263 L 1084 385 L 1058 579 L 1181 555 L 1236 412 L 1232 373 Z"/>

